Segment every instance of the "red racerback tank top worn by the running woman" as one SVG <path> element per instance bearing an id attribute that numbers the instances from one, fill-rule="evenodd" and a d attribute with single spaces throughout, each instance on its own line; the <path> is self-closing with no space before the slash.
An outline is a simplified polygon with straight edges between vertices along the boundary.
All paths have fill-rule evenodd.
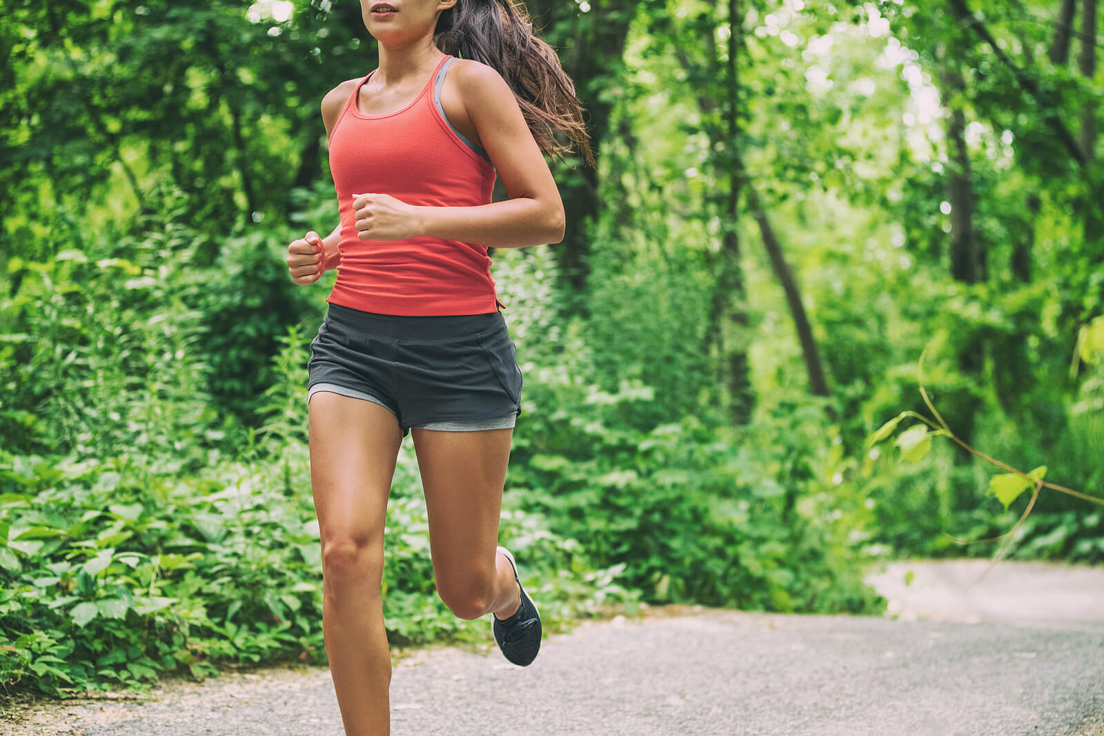
<path id="1" fill-rule="evenodd" d="M 452 56 L 440 60 L 413 103 L 390 115 L 364 115 L 357 85 L 330 131 L 330 173 L 341 214 L 341 265 L 327 301 L 380 314 L 415 317 L 496 311 L 487 248 L 437 237 L 361 241 L 353 194 L 390 194 L 438 207 L 488 204 L 495 168 L 487 153 L 445 117 L 440 87 Z"/>

